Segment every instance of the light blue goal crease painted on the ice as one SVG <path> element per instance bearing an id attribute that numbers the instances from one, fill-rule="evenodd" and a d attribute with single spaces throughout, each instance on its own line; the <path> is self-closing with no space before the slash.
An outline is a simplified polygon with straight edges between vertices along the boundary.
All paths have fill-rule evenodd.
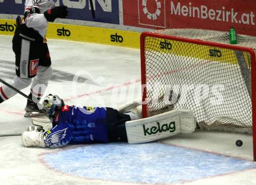
<path id="1" fill-rule="evenodd" d="M 183 183 L 256 168 L 243 159 L 162 143 L 94 144 L 43 154 L 41 159 L 67 175 L 139 184 Z"/>

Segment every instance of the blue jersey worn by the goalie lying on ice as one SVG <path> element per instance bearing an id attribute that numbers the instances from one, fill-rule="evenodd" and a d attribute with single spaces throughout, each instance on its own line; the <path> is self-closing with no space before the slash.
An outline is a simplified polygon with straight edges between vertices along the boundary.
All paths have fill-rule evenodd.
<path id="1" fill-rule="evenodd" d="M 66 144 L 107 143 L 106 108 L 63 106 L 44 135 L 48 147 Z"/>

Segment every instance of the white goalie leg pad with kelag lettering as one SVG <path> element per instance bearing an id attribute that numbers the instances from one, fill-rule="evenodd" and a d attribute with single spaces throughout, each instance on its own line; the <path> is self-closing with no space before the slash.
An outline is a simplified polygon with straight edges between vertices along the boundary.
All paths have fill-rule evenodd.
<path id="1" fill-rule="evenodd" d="M 172 110 L 152 117 L 126 122 L 128 143 L 147 143 L 195 130 L 193 111 Z"/>

